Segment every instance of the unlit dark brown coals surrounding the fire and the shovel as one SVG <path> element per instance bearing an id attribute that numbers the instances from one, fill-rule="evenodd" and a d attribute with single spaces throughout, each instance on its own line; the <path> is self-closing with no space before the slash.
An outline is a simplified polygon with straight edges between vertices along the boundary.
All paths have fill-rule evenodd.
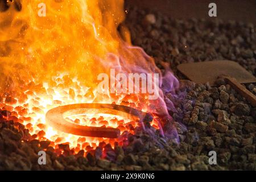
<path id="1" fill-rule="evenodd" d="M 112 149 L 103 144 L 84 157 L 60 145 L 57 156 L 49 142 L 32 139 L 24 126 L 6 121 L 0 112 L 0 169 L 126 169 L 220 170 L 256 169 L 256 108 L 223 80 L 215 87 L 184 80 L 176 70 L 180 63 L 229 59 L 255 75 L 254 24 L 213 20 L 175 20 L 147 10 L 129 9 L 126 24 L 133 43 L 160 61 L 171 64 L 180 78 L 179 99 L 166 94 L 177 111 L 170 110 L 180 143 L 141 130 L 129 135 L 129 145 Z M 256 94 L 253 84 L 246 85 Z M 154 129 L 149 131 L 155 132 Z M 28 139 L 28 142 L 26 141 Z M 102 149 L 106 157 L 102 159 Z M 47 151 L 47 164 L 38 165 L 38 151 Z M 217 152 L 217 165 L 209 165 L 209 151 Z"/>

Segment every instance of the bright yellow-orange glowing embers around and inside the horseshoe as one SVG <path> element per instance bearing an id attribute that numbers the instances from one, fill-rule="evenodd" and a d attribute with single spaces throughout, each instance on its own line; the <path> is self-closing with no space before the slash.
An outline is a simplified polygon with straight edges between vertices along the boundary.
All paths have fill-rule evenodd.
<path id="1" fill-rule="evenodd" d="M 63 77 L 55 77 L 56 86 L 52 86 L 51 88 L 47 84 L 44 84 L 43 87 L 34 85 L 32 86 L 34 89 L 24 92 L 23 97 L 7 97 L 5 104 L 1 104 L 3 110 L 11 111 L 11 116 L 7 119 L 13 119 L 14 122 L 23 123 L 31 135 L 36 134 L 36 139 L 49 139 L 53 141 L 52 146 L 60 143 L 69 143 L 71 147 L 75 147 L 76 151 L 79 151 L 82 149 L 86 150 L 87 146 L 95 148 L 100 142 L 110 143 L 112 146 L 114 142 L 122 144 L 122 137 L 119 139 L 79 137 L 54 130 L 52 127 L 46 125 L 46 113 L 48 110 L 57 106 L 74 103 L 92 103 L 95 100 L 94 94 L 90 93 L 88 88 L 81 86 L 80 82 L 75 79 L 72 80 L 72 87 L 63 88 Z M 68 78 L 65 79 L 67 80 Z M 28 85 L 33 85 L 33 82 Z M 127 95 L 123 99 L 131 102 L 123 102 L 122 99 L 119 99 L 115 103 L 133 106 L 138 110 L 143 110 L 139 106 L 139 100 L 134 99 L 133 96 Z M 114 101 L 115 98 L 109 97 L 105 103 L 112 103 Z M 133 133 L 133 129 L 138 126 L 137 121 L 131 121 L 118 115 L 113 116 L 109 114 L 89 113 L 86 115 L 71 115 L 68 119 L 80 125 L 114 127 L 121 132 L 129 131 L 130 133 Z M 156 121 L 153 121 L 152 124 L 158 128 Z"/>

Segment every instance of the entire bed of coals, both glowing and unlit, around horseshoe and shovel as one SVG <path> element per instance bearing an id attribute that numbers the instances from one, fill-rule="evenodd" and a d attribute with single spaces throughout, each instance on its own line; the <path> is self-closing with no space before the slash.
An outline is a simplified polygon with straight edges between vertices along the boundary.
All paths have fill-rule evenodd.
<path id="1" fill-rule="evenodd" d="M 181 63 L 229 59 L 255 76 L 255 24 L 175 20 L 135 7 L 126 12 L 132 42 L 154 56 L 162 73 L 166 72 L 165 61 L 179 77 L 175 94 L 163 89 L 164 102 L 173 117 L 163 130 L 171 132 L 163 135 L 159 123 L 166 118 L 153 114 L 141 97 L 97 98 L 94 90 L 69 75 L 51 77 L 47 84 L 31 81 L 15 96 L 1 93 L 0 169 L 255 170 L 255 107 L 224 80 L 217 80 L 217 86 L 211 87 L 183 80 L 176 71 Z M 255 85 L 246 86 L 256 94 Z M 113 138 L 73 135 L 74 131 L 63 132 L 47 124 L 48 111 L 73 104 L 91 108 L 92 103 L 102 100 L 103 107 L 133 108 L 150 117 L 141 122 L 130 112 L 127 117 L 103 109 L 80 110 L 61 118 L 72 126 L 96 127 L 103 132 L 115 129 Z M 38 164 L 39 151 L 46 151 L 46 165 Z M 209 151 L 216 151 L 216 165 L 209 165 Z"/>

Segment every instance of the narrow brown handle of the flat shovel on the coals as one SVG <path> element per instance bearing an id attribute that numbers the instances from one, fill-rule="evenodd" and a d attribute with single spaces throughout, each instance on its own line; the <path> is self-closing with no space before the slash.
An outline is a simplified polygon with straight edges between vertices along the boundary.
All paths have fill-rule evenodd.
<path id="1" fill-rule="evenodd" d="M 247 101 L 251 103 L 253 107 L 256 107 L 256 96 L 247 90 L 243 85 L 237 82 L 236 78 L 223 76 L 224 80 L 231 85 L 238 93 L 246 98 Z"/>

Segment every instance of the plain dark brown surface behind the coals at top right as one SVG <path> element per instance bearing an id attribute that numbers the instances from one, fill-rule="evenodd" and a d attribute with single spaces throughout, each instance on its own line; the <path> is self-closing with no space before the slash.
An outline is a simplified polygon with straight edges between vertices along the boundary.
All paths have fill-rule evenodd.
<path id="1" fill-rule="evenodd" d="M 208 5 L 217 5 L 217 18 L 256 23 L 255 0 L 125 0 L 129 5 L 161 11 L 172 18 L 210 18 Z"/>

